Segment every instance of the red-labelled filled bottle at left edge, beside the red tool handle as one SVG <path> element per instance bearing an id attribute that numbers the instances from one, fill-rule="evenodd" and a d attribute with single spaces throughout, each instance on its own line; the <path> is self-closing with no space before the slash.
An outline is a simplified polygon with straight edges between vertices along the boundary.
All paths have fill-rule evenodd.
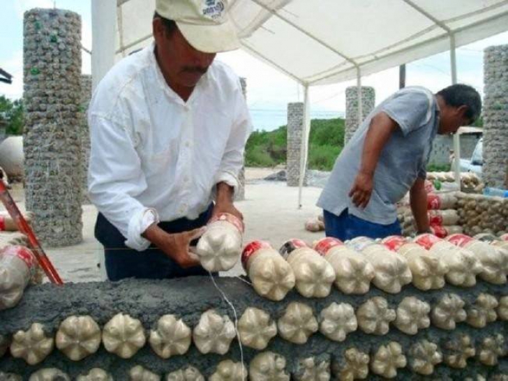
<path id="1" fill-rule="evenodd" d="M 19 303 L 36 268 L 35 256 L 24 246 L 6 246 L 0 251 L 0 311 Z"/>

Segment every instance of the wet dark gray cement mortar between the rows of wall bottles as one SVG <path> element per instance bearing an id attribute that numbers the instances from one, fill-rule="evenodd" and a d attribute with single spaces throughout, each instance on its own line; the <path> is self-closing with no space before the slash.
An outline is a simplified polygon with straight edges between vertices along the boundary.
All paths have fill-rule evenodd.
<path id="1" fill-rule="evenodd" d="M 466 303 L 466 307 L 472 304 L 481 292 L 492 294 L 495 297 L 508 294 L 506 285 L 491 285 L 479 281 L 475 287 L 461 288 L 447 285 L 441 290 L 422 292 L 412 286 L 406 286 L 399 294 L 387 294 L 373 287 L 366 295 L 351 296 L 333 290 L 329 297 L 324 299 L 306 299 L 292 291 L 280 302 L 269 301 L 258 296 L 250 285 L 238 278 L 217 278 L 218 287 L 225 292 L 232 301 L 240 317 L 246 307 L 255 306 L 270 313 L 271 317 L 278 319 L 283 315 L 287 304 L 291 301 L 301 301 L 311 306 L 315 316 L 331 302 L 345 302 L 355 309 L 367 299 L 374 296 L 385 297 L 391 306 L 396 308 L 398 303 L 408 296 L 418 297 L 434 305 L 440 297 L 447 292 L 460 295 Z M 162 315 L 173 313 L 182 317 L 189 327 L 195 327 L 200 315 L 209 308 L 215 308 L 218 313 L 227 314 L 234 320 L 234 314 L 216 290 L 211 280 L 207 277 L 191 277 L 186 279 L 174 279 L 170 281 L 146 281 L 126 280 L 118 283 L 68 283 L 66 285 L 40 285 L 27 290 L 20 304 L 10 310 L 0 312 L 0 335 L 13 334 L 19 329 L 28 329 L 33 322 L 42 323 L 47 331 L 56 333 L 59 323 L 70 315 L 91 315 L 96 322 L 103 327 L 104 324 L 119 312 L 140 319 L 145 329 L 151 329 L 158 318 Z M 373 336 L 355 331 L 348 335 L 343 343 L 330 341 L 322 334 L 316 333 L 304 345 L 296 345 L 277 336 L 266 350 L 283 355 L 287 359 L 286 369 L 290 373 L 299 372 L 299 361 L 307 357 L 316 356 L 322 359 L 329 355 L 332 364 L 341 360 L 343 352 L 352 346 L 364 352 L 375 352 L 380 345 L 389 341 L 397 341 L 403 347 L 408 356 L 410 345 L 417 340 L 427 339 L 442 343 L 458 334 L 468 334 L 478 346 L 486 336 L 502 334 L 508 337 L 508 324 L 506 322 L 493 322 L 483 329 L 475 329 L 466 323 L 459 323 L 453 331 L 446 331 L 436 327 L 423 329 L 414 336 L 408 336 L 391 327 L 389 334 L 385 336 Z M 249 362 L 258 352 L 251 348 L 243 348 L 244 362 Z M 115 380 L 127 380 L 128 371 L 135 365 L 158 373 L 166 374 L 183 366 L 191 364 L 198 368 L 205 376 L 214 372 L 216 365 L 224 359 L 240 361 L 241 355 L 238 342 L 232 342 L 230 351 L 224 356 L 218 354 L 200 354 L 194 345 L 184 356 L 171 357 L 164 360 L 154 354 L 149 345 L 145 345 L 131 359 L 120 359 L 114 354 L 105 351 L 104 348 L 87 357 L 86 359 L 73 362 L 67 359 L 58 350 L 54 350 L 42 364 L 27 366 L 21 359 L 13 359 L 10 355 L 0 359 L 0 371 L 17 373 L 28 378 L 31 373 L 46 367 L 57 367 L 67 372 L 71 377 L 85 373 L 94 367 L 107 369 Z M 418 378 L 421 380 L 457 380 L 465 375 L 494 375 L 508 373 L 508 359 L 500 359 L 500 364 L 494 367 L 484 366 L 477 359 L 468 361 L 468 368 L 453 370 L 447 366 L 439 365 L 432 378 Z M 410 368 L 401 369 L 398 373 L 399 380 L 417 379 L 410 372 Z M 373 375 L 369 380 L 377 380 Z"/>

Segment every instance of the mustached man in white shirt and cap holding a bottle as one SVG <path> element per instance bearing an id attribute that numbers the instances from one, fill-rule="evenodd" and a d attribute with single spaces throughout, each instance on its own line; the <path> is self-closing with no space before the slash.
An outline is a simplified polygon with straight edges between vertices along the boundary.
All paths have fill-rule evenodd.
<path id="1" fill-rule="evenodd" d="M 190 252 L 233 205 L 251 120 L 216 52 L 239 41 L 227 0 L 157 0 L 154 44 L 119 62 L 89 106 L 89 195 L 107 276 L 206 274 Z M 214 203 L 215 202 L 215 203 Z"/>

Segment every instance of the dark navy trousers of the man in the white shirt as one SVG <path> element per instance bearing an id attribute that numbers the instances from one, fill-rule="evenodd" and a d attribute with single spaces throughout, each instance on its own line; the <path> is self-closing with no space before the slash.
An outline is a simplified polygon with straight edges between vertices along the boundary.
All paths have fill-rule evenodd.
<path id="1" fill-rule="evenodd" d="M 161 222 L 158 226 L 168 233 L 186 232 L 202 227 L 209 221 L 213 207 L 211 204 L 207 211 L 195 220 L 179 218 Z M 135 251 L 127 247 L 126 238 L 100 213 L 97 216 L 95 237 L 104 246 L 107 278 L 110 281 L 124 278 L 167 279 L 208 275 L 200 266 L 183 269 L 154 245 L 145 251 Z M 195 242 L 192 244 L 195 245 Z"/>

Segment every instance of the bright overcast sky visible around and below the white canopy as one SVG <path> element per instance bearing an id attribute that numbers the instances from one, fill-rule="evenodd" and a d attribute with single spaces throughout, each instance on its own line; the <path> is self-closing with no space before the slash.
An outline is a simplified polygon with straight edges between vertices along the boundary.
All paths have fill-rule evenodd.
<path id="1" fill-rule="evenodd" d="M 57 0 L 56 3 L 58 8 L 73 10 L 82 16 L 82 43 L 84 47 L 92 49 L 91 0 Z M 14 82 L 11 85 L 0 82 L 0 94 L 10 98 L 22 96 L 24 11 L 35 7 L 52 8 L 53 5 L 53 0 L 1 0 L 0 67 L 14 75 Z M 458 82 L 470 84 L 483 92 L 483 50 L 491 45 L 507 43 L 508 32 L 459 48 Z M 247 78 L 248 105 L 251 109 L 285 110 L 288 102 L 303 98 L 296 82 L 245 52 L 219 54 L 218 59 L 225 61 L 237 74 Z M 90 68 L 90 56 L 84 52 L 83 73 L 90 73 Z M 451 84 L 449 52 L 409 63 L 406 73 L 408 86 L 421 85 L 438 91 Z M 354 84 L 356 81 L 312 87 L 312 109 L 343 112 L 345 88 Z M 375 88 L 376 103 L 379 103 L 398 89 L 398 68 L 364 77 L 362 84 Z"/>

